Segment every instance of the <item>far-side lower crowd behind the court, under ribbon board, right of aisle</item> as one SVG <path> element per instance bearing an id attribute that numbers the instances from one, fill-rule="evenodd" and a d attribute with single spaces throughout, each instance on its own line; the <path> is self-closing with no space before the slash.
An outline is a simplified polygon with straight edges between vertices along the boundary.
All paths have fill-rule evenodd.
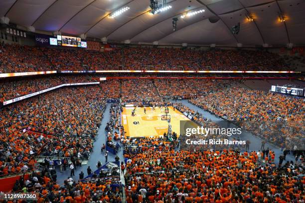
<path id="1" fill-rule="evenodd" d="M 153 79 L 122 80 L 122 101 L 158 102 L 168 98 L 190 99 L 238 84 L 229 80 Z"/>

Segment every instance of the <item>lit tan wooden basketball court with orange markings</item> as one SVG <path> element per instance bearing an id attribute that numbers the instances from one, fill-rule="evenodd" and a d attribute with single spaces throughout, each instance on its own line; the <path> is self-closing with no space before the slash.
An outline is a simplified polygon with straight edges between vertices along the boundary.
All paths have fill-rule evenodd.
<path id="1" fill-rule="evenodd" d="M 164 107 L 161 109 L 155 107 L 146 107 L 146 114 L 144 113 L 144 107 L 136 107 L 135 116 L 132 116 L 132 111 L 135 107 L 124 107 L 122 112 L 122 125 L 126 131 L 126 135 L 130 137 L 159 137 L 163 136 L 163 133 L 167 133 L 168 122 L 167 120 L 161 120 L 161 116 L 165 115 Z M 173 110 L 172 106 L 168 107 L 170 115 L 170 124 L 172 132 L 180 134 L 180 120 L 190 120 L 180 111 Z"/>

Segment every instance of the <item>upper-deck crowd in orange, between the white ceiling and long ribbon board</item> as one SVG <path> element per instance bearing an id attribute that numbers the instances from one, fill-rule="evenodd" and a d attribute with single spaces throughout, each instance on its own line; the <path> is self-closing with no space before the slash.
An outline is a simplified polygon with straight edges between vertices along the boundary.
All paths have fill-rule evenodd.
<path id="1" fill-rule="evenodd" d="M 278 54 L 251 50 L 113 48 L 97 52 L 76 48 L 0 45 L 0 72 L 49 70 L 292 70 Z"/>

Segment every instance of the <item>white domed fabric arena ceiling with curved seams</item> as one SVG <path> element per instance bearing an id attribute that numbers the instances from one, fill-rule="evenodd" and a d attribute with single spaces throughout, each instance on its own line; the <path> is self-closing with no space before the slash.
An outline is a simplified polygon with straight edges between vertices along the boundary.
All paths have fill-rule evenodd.
<path id="1" fill-rule="evenodd" d="M 161 1 L 161 0 L 160 0 Z M 0 16 L 36 30 L 108 40 L 198 45 L 304 45 L 305 0 L 167 0 L 172 8 L 152 15 L 150 0 L 1 0 Z M 116 18 L 109 15 L 130 9 Z M 180 18 L 187 12 L 205 12 Z M 279 12 L 285 22 L 279 20 Z M 247 20 L 251 14 L 254 21 Z M 177 30 L 172 18 L 177 17 Z M 239 34 L 231 28 L 240 22 Z"/>

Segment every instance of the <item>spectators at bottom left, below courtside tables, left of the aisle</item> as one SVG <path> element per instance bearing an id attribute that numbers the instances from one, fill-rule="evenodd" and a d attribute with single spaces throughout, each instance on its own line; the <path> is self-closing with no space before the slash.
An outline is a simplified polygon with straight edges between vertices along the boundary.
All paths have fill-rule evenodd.
<path id="1" fill-rule="evenodd" d="M 123 184 L 118 178 L 96 178 L 75 181 L 68 177 L 63 185 L 56 183 L 54 168 L 33 172 L 29 179 L 17 181 L 12 192 L 36 194 L 37 203 L 122 203 Z"/>

